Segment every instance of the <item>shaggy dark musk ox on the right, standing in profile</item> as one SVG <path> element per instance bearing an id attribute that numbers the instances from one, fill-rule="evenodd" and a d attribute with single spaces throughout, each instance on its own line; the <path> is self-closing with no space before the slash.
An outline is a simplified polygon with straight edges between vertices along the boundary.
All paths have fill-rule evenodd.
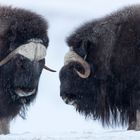
<path id="1" fill-rule="evenodd" d="M 67 44 L 63 100 L 103 125 L 140 130 L 140 6 L 86 23 Z"/>

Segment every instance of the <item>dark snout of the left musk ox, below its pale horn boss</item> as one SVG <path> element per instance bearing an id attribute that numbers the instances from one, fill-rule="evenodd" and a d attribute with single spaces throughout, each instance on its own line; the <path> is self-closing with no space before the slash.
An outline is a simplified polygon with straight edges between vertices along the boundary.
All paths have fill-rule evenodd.
<path id="1" fill-rule="evenodd" d="M 14 61 L 16 62 L 16 69 L 14 74 L 14 88 L 16 94 L 21 96 L 30 96 L 36 93 L 39 78 L 44 66 L 44 60 L 42 62 L 31 62 L 26 58 L 22 58 L 20 61 L 19 56 Z M 28 75 L 28 76 L 26 76 Z"/>

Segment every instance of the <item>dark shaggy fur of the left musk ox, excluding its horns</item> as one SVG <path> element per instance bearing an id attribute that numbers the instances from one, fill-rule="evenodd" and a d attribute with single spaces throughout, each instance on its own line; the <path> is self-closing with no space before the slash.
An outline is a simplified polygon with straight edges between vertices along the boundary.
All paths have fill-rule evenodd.
<path id="1" fill-rule="evenodd" d="M 24 9 L 0 7 L 0 60 L 29 39 L 41 39 L 47 47 L 47 29 L 47 23 L 40 15 Z M 0 67 L 0 119 L 13 118 L 17 114 L 25 117 L 24 111 L 36 94 L 19 97 L 15 89 L 29 91 L 35 88 L 37 93 L 44 64 L 45 60 L 34 64 L 17 55 Z"/>

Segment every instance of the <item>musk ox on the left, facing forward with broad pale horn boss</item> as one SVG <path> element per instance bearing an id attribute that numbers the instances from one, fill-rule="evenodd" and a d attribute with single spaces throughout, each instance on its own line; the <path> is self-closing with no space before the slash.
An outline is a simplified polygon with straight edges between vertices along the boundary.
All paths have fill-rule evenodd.
<path id="1" fill-rule="evenodd" d="M 0 134 L 17 114 L 25 117 L 45 66 L 48 25 L 24 9 L 0 7 Z"/>

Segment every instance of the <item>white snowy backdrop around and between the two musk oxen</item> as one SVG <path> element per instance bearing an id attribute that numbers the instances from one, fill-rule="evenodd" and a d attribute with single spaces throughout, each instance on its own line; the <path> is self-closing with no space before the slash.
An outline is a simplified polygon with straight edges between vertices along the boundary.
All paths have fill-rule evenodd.
<path id="1" fill-rule="evenodd" d="M 140 132 L 126 128 L 102 128 L 100 123 L 85 119 L 59 96 L 59 70 L 68 47 L 66 37 L 86 21 L 104 16 L 120 7 L 140 0 L 0 0 L 35 11 L 49 23 L 49 48 L 46 64 L 57 73 L 43 71 L 36 101 L 27 112 L 27 119 L 17 117 L 11 123 L 11 134 L 0 140 L 138 140 Z"/>

